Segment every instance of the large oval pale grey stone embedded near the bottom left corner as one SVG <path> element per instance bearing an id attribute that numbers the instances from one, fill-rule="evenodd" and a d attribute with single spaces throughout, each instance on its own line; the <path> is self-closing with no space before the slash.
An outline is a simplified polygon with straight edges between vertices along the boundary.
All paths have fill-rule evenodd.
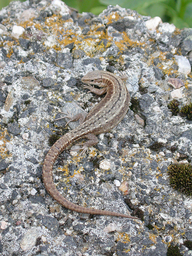
<path id="1" fill-rule="evenodd" d="M 32 249 L 33 246 L 35 246 L 35 244 L 36 244 L 37 238 L 38 238 L 37 229 L 35 229 L 35 228 L 28 229 L 28 231 L 25 233 L 25 235 L 21 239 L 21 242 L 20 242 L 21 249 L 24 252 Z"/>

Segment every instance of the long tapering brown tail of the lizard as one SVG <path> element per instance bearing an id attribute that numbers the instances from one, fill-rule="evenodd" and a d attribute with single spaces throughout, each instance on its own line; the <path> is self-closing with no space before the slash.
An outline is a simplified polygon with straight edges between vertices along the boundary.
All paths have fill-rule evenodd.
<path id="1" fill-rule="evenodd" d="M 60 192 L 57 190 L 54 182 L 53 182 L 53 176 L 52 176 L 52 169 L 53 164 L 55 163 L 55 160 L 60 155 L 60 153 L 67 148 L 68 145 L 71 144 L 71 142 L 77 140 L 78 137 L 75 137 L 74 131 L 68 132 L 67 134 L 63 135 L 59 140 L 57 140 L 53 146 L 49 149 L 49 152 L 45 156 L 44 164 L 43 164 L 43 182 L 46 190 L 48 193 L 62 206 L 65 208 L 75 211 L 75 212 L 82 212 L 82 213 L 89 213 L 89 214 L 98 214 L 98 215 L 111 215 L 111 216 L 117 216 L 117 217 L 124 217 L 129 219 L 138 219 L 137 217 L 126 215 L 118 212 L 110 212 L 105 210 L 98 210 L 93 208 L 87 208 L 82 207 L 77 204 L 71 203 L 69 200 L 67 200 L 64 196 L 60 194 Z"/>

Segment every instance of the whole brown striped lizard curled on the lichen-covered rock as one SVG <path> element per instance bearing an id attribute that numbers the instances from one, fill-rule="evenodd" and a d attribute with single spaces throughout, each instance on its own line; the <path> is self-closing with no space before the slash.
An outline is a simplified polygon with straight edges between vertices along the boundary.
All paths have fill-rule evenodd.
<path id="1" fill-rule="evenodd" d="M 60 153 L 72 142 L 81 138 L 88 139 L 83 144 L 77 144 L 81 145 L 78 147 L 78 149 L 82 150 L 82 152 L 80 153 L 82 155 L 88 150 L 89 147 L 98 143 L 99 140 L 97 139 L 96 135 L 104 132 L 109 132 L 113 127 L 121 122 L 121 120 L 127 113 L 130 103 L 129 92 L 123 83 L 123 81 L 126 79 L 128 79 L 128 77 L 123 75 L 119 77 L 108 71 L 95 70 L 88 72 L 81 79 L 81 81 L 86 84 L 84 85 L 84 89 L 88 89 L 88 92 L 93 92 L 97 95 L 102 95 L 106 93 L 105 97 L 90 110 L 87 116 L 84 116 L 82 114 L 72 116 L 69 115 L 69 113 L 64 113 L 66 115 L 65 117 L 69 119 L 67 124 L 69 122 L 79 120 L 80 125 L 60 137 L 60 139 L 58 139 L 49 149 L 44 159 L 42 176 L 44 186 L 48 193 L 59 204 L 67 209 L 81 213 L 111 215 L 130 219 L 139 219 L 131 215 L 94 208 L 87 208 L 71 203 L 57 190 L 52 176 L 52 168 L 55 160 L 60 155 Z M 95 88 L 94 85 L 98 86 L 99 88 Z M 61 117 L 58 119 L 62 119 L 65 117 Z"/>

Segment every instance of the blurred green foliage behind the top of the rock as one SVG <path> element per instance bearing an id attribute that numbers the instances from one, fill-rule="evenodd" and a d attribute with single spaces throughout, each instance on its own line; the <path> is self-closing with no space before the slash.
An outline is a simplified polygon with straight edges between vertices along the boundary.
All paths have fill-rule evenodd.
<path id="1" fill-rule="evenodd" d="M 0 0 L 0 9 L 11 0 Z M 68 6 L 79 12 L 99 14 L 107 5 L 120 5 L 136 10 L 142 15 L 159 16 L 163 22 L 173 23 L 177 28 L 192 28 L 192 0 L 66 0 Z"/>

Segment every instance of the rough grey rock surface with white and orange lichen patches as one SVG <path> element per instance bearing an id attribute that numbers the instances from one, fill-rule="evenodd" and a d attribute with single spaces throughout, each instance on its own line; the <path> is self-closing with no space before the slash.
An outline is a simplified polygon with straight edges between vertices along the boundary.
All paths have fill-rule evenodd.
<path id="1" fill-rule="evenodd" d="M 170 244 L 189 255 L 192 198 L 169 185 L 167 167 L 191 162 L 192 122 L 167 105 L 174 89 L 179 108 L 191 101 L 192 29 L 118 5 L 79 14 L 60 0 L 12 2 L 0 22 L 0 255 L 166 256 Z M 79 124 L 54 119 L 98 104 L 81 83 L 98 69 L 128 76 L 130 109 L 83 157 L 65 150 L 53 179 L 71 202 L 141 220 L 71 212 L 43 185 L 53 138 Z"/>

